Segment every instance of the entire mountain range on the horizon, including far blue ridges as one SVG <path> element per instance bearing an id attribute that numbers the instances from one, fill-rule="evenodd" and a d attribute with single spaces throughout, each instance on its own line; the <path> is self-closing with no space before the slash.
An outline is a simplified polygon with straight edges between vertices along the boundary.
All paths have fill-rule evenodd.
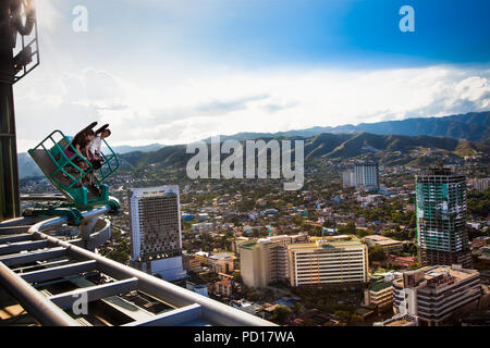
<path id="1" fill-rule="evenodd" d="M 316 158 L 345 160 L 371 156 L 387 165 L 408 164 L 428 160 L 427 153 L 434 153 L 424 149 L 432 149 L 456 158 L 476 153 L 489 154 L 490 112 L 221 136 L 222 141 L 258 138 L 303 139 L 307 161 Z M 128 169 L 147 165 L 182 169 L 193 156 L 186 154 L 185 148 L 185 145 L 154 144 L 143 147 L 114 147 L 114 151 L 120 154 L 123 164 Z M 19 167 L 21 178 L 41 175 L 27 153 L 19 154 Z"/>

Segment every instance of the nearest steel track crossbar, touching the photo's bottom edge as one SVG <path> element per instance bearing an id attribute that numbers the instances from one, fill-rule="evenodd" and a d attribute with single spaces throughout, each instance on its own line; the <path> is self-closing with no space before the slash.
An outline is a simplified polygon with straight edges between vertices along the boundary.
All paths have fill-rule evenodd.
<path id="1" fill-rule="evenodd" d="M 123 326 L 182 326 L 199 320 L 201 315 L 201 306 L 195 303 L 157 314 L 146 321 L 135 321 Z"/>

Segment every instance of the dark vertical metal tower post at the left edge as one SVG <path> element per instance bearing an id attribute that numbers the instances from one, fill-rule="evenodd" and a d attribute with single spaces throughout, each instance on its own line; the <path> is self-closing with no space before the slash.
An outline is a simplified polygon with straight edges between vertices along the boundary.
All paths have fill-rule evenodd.
<path id="1" fill-rule="evenodd" d="M 13 84 L 39 65 L 37 34 L 34 0 L 0 1 L 0 221 L 21 215 Z"/>

